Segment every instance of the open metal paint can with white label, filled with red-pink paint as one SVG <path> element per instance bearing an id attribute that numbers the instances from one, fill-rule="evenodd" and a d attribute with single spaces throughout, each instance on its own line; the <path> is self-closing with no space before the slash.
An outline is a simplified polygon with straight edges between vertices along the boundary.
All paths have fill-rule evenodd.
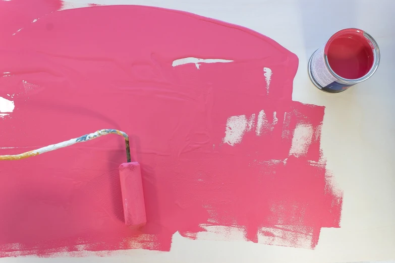
<path id="1" fill-rule="evenodd" d="M 322 91 L 338 93 L 369 79 L 377 70 L 380 50 L 371 35 L 357 28 L 336 32 L 310 57 L 310 80 Z"/>

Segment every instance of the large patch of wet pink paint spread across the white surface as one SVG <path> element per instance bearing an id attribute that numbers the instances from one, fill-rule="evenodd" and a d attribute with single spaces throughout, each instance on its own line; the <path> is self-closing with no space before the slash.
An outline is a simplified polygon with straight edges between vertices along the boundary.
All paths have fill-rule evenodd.
<path id="1" fill-rule="evenodd" d="M 2 31 L 0 72 L 12 76 L 0 78 L 0 96 L 16 94 L 14 112 L 0 119 L 1 147 L 15 148 L 1 153 L 123 130 L 141 165 L 147 224 L 125 225 L 124 141 L 107 136 L 0 164 L 2 256 L 168 251 L 175 232 L 196 238 L 216 225 L 253 242 L 314 248 L 322 227 L 339 227 L 342 193 L 320 152 L 324 108 L 292 101 L 295 54 L 249 29 L 178 11 L 101 6 L 30 23 L 61 4 L 35 1 L 14 21 L 3 7 L 20 2 L 0 2 L 0 22 L 13 25 Z M 185 57 L 234 61 L 172 67 Z M 263 68 L 272 72 L 268 92 Z M 238 115 L 255 118 L 231 146 L 227 120 Z"/>

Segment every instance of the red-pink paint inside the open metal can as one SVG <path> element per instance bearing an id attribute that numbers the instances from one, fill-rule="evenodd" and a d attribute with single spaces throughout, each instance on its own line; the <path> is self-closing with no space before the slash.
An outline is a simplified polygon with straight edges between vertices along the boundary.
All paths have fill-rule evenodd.
<path id="1" fill-rule="evenodd" d="M 359 79 L 373 67 L 370 41 L 358 29 L 342 30 L 334 34 L 325 47 L 330 68 L 345 79 Z"/>

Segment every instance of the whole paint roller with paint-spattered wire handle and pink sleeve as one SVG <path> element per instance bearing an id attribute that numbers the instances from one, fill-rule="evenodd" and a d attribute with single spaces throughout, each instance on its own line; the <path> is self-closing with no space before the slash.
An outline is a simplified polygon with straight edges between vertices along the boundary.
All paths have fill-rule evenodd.
<path id="1" fill-rule="evenodd" d="M 71 146 L 76 143 L 87 142 L 108 134 L 117 134 L 125 138 L 127 162 L 122 163 L 119 167 L 125 224 L 132 228 L 140 228 L 147 222 L 141 169 L 138 162 L 131 162 L 129 137 L 123 131 L 117 129 L 100 129 L 95 133 L 87 134 L 66 142 L 45 146 L 26 153 L 17 155 L 0 155 L 0 161 L 21 160 Z"/>

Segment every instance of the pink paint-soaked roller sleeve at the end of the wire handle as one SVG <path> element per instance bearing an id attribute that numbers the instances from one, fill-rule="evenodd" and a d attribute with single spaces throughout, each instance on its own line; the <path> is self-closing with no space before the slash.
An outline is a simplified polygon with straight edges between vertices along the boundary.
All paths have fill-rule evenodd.
<path id="1" fill-rule="evenodd" d="M 125 224 L 134 228 L 142 227 L 147 223 L 147 217 L 140 164 L 138 162 L 121 164 L 120 180 Z"/>

